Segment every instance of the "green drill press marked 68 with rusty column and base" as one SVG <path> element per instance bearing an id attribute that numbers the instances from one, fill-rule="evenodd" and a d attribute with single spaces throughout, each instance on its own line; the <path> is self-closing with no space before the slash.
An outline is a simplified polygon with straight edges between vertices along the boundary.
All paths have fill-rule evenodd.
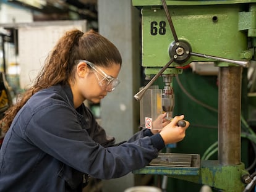
<path id="1" fill-rule="evenodd" d="M 135 99 L 142 99 L 163 77 L 163 111 L 173 115 L 173 78 L 192 62 L 213 63 L 218 69 L 218 160 L 161 154 L 134 173 L 168 175 L 216 191 L 245 191 L 254 174 L 241 162 L 242 72 L 255 59 L 256 1 L 132 0 L 132 4 L 142 14 L 142 66 L 147 78 L 153 76 Z"/>

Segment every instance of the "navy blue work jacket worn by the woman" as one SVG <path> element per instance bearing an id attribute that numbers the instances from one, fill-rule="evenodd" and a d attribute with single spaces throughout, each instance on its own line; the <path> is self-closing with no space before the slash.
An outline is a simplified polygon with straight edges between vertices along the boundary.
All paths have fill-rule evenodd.
<path id="1" fill-rule="evenodd" d="M 0 191 L 82 191 L 84 173 L 117 178 L 164 148 L 150 130 L 115 144 L 87 107 L 74 108 L 69 86 L 34 94 L 15 116 L 0 150 Z"/>

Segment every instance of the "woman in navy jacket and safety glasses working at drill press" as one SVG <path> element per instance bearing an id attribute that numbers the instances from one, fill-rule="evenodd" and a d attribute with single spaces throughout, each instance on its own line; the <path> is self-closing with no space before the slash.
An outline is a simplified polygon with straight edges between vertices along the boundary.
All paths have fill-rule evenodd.
<path id="1" fill-rule="evenodd" d="M 189 122 L 176 125 L 183 115 L 160 120 L 160 133 L 145 129 L 119 144 L 96 123 L 83 101 L 100 102 L 116 88 L 121 62 L 95 31 L 68 31 L 58 41 L 34 85 L 1 120 L 0 191 L 82 191 L 88 175 L 122 177 L 184 138 Z"/>

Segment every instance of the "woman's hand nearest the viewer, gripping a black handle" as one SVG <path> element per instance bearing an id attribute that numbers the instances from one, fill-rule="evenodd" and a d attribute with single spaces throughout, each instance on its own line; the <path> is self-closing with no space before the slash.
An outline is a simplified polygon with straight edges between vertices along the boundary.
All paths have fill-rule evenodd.
<path id="1" fill-rule="evenodd" d="M 168 125 L 163 127 L 160 135 L 164 140 L 164 144 L 177 143 L 184 139 L 184 137 L 186 136 L 186 129 L 189 127 L 189 122 L 185 120 L 185 127 L 180 127 L 177 125 L 177 122 L 183 119 L 184 115 L 176 116 L 171 120 Z"/>

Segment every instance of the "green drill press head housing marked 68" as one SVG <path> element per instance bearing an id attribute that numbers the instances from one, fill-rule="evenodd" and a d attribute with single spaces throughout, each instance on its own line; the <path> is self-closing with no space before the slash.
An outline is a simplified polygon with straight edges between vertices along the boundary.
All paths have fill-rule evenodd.
<path id="1" fill-rule="evenodd" d="M 184 40 L 192 47 L 192 52 L 241 60 L 247 51 L 247 35 L 239 31 L 238 5 L 215 6 L 172 6 L 169 7 L 174 27 L 179 40 Z M 168 25 L 164 10 L 160 7 L 142 8 L 142 66 L 163 67 L 169 60 L 169 46 L 173 35 Z M 161 35 L 161 23 L 166 23 L 166 33 Z M 152 23 L 156 23 L 153 25 Z M 162 27 L 163 28 L 163 27 Z M 152 35 L 151 31 L 154 34 Z M 158 30 L 158 31 L 157 31 Z M 201 57 L 190 57 L 192 61 L 210 61 Z M 218 62 L 218 66 L 228 66 Z M 171 67 L 180 66 L 173 63 Z"/>

